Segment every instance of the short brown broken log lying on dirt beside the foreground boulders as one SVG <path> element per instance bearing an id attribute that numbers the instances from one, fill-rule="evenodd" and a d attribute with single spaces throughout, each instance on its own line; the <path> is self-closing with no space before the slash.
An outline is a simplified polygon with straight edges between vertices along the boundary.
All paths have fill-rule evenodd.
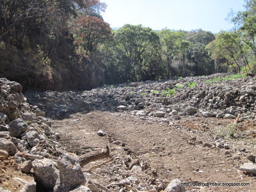
<path id="1" fill-rule="evenodd" d="M 99 159 L 104 159 L 111 157 L 109 154 L 109 147 L 108 145 L 106 148 L 102 148 L 98 152 L 88 152 L 87 154 L 83 154 L 79 156 L 80 166 L 83 167 L 85 164 L 88 164 L 92 161 L 97 161 Z"/>

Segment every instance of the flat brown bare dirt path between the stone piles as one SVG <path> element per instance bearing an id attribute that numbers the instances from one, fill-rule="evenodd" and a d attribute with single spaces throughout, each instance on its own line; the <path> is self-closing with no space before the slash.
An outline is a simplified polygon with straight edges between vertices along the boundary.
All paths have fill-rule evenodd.
<path id="1" fill-rule="evenodd" d="M 76 113 L 64 120 L 54 120 L 53 129 L 60 132 L 61 148 L 68 152 L 83 154 L 109 145 L 115 161 L 123 161 L 123 164 L 117 166 L 114 161 L 97 170 L 99 175 L 108 179 L 91 176 L 104 186 L 108 186 L 113 180 L 122 179 L 125 177 L 124 173 L 129 173 L 124 166 L 126 160 L 140 159 L 140 162 L 150 166 L 141 173 L 147 176 L 137 174 L 144 186 L 149 186 L 147 183 L 150 178 L 156 184 L 168 183 L 177 178 L 182 182 L 250 183 L 250 186 L 236 187 L 187 186 L 187 191 L 255 191 L 255 177 L 249 177 L 237 170 L 238 166 L 246 162 L 243 156 L 236 158 L 239 149 L 233 146 L 241 144 L 230 141 L 229 158 L 225 157 L 224 148 L 203 147 L 204 143 L 211 142 L 207 129 L 217 124 L 225 125 L 229 121 L 184 117 L 169 125 L 141 120 L 124 113 L 93 111 L 86 115 Z M 99 130 L 106 136 L 98 136 Z M 113 169 L 113 166 L 118 168 Z M 147 177 L 148 180 L 142 177 Z"/>

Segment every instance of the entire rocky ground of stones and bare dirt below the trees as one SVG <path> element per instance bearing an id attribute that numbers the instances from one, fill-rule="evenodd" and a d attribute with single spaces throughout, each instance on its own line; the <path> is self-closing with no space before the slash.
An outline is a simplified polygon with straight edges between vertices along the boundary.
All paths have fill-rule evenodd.
<path id="1" fill-rule="evenodd" d="M 255 77 L 230 74 L 24 95 L 1 79 L 0 187 L 253 191 L 255 91 Z M 79 157 L 106 145 L 113 160 L 82 173 L 104 159 L 81 168 Z M 250 186 L 202 185 L 223 182 Z"/>

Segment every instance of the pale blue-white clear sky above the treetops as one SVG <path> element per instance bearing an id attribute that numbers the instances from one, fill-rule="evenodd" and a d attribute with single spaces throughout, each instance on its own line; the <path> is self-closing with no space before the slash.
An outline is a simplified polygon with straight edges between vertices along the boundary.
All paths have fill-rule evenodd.
<path id="1" fill-rule="evenodd" d="M 103 19 L 111 28 L 125 24 L 153 30 L 203 29 L 218 33 L 232 29 L 228 13 L 244 11 L 244 0 L 101 0 L 107 4 Z"/>

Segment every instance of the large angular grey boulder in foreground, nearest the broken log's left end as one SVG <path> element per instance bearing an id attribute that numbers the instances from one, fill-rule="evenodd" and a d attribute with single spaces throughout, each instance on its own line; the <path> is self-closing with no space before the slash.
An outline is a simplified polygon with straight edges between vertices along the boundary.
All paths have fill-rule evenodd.
<path id="1" fill-rule="evenodd" d="M 86 181 L 76 154 L 62 154 L 58 159 L 58 168 L 60 177 L 56 181 L 54 192 L 70 191 Z"/>

